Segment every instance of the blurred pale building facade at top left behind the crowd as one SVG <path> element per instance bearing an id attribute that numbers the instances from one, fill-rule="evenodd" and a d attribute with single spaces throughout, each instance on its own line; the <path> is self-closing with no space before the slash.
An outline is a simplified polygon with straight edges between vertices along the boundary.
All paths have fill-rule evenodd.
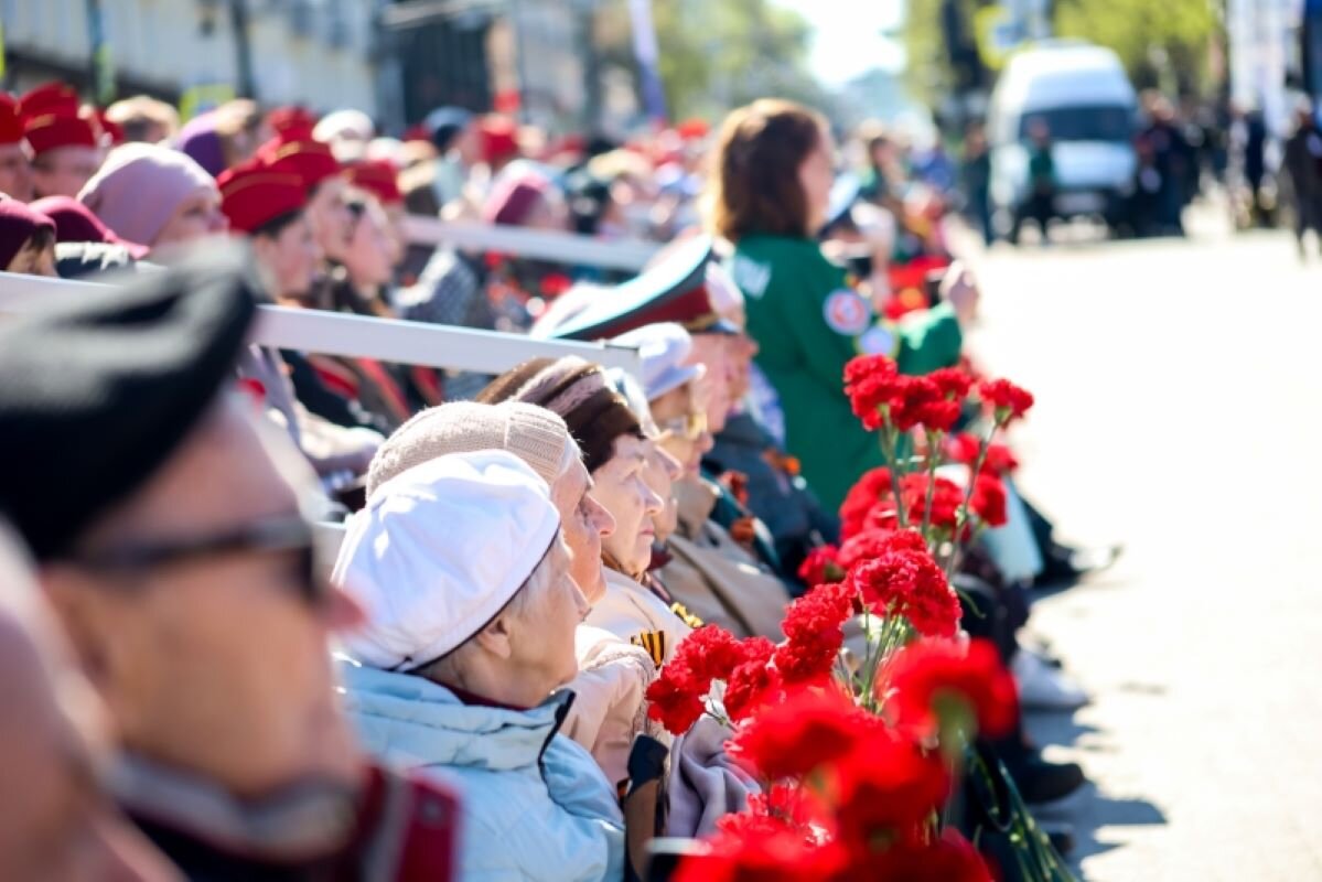
<path id="1" fill-rule="evenodd" d="M 231 89 L 250 90 L 272 104 L 375 112 L 377 5 L 378 0 L 0 0 L 7 79 L 21 91 L 59 78 L 93 94 L 90 60 L 99 25 L 120 95 L 149 93 L 180 100 L 190 91 Z M 246 28 L 235 26 L 245 19 Z"/>

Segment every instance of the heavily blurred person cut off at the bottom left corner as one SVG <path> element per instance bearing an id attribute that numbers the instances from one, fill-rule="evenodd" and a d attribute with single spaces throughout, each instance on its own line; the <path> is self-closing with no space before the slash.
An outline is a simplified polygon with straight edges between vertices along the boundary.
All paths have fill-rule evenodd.
<path id="1" fill-rule="evenodd" d="M 0 879 L 175 879 L 104 799 L 104 710 L 0 529 Z"/>

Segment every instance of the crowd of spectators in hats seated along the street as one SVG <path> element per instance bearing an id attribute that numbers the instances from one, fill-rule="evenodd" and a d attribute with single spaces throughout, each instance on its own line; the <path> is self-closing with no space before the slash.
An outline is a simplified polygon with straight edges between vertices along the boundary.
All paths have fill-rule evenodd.
<path id="1" fill-rule="evenodd" d="M 0 270 L 111 274 L 0 325 L 0 878 L 661 879 L 658 837 L 758 799 L 727 721 L 668 731 L 649 689 L 705 624 L 783 639 L 887 463 L 851 358 L 977 373 L 945 202 L 875 130 L 846 140 L 862 186 L 777 99 L 624 144 L 455 107 L 394 139 L 354 110 L 0 99 Z M 406 214 L 661 247 L 620 278 L 419 246 Z M 280 350 L 249 342 L 258 304 L 607 340 L 640 370 Z M 1031 598 L 1118 550 L 1007 497 L 962 628 L 1021 710 L 1071 710 Z M 978 750 L 1030 807 L 1084 784 L 1022 718 Z M 952 822 L 1038 878 L 980 799 Z"/>

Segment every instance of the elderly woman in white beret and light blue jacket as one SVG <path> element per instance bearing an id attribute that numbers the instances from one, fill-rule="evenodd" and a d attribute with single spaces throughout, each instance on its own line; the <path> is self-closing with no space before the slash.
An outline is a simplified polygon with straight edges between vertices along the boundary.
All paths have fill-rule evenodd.
<path id="1" fill-rule="evenodd" d="M 559 734 L 587 602 L 546 481 L 505 451 L 407 469 L 354 517 L 333 581 L 366 611 L 348 710 L 370 752 L 457 784 L 461 878 L 621 878 L 615 788 Z"/>

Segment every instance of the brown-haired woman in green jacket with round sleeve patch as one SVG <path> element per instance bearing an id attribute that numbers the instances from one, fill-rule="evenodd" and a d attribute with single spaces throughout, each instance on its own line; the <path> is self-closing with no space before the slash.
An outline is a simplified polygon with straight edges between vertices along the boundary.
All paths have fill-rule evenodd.
<path id="1" fill-rule="evenodd" d="M 713 226 L 735 246 L 734 278 L 760 346 L 756 364 L 780 395 L 785 446 L 832 508 L 884 464 L 876 436 L 850 411 L 845 364 L 884 353 L 906 373 L 927 373 L 956 364 L 962 340 L 948 303 L 883 320 L 822 254 L 814 237 L 836 180 L 834 149 L 818 114 L 763 99 L 726 118 L 711 179 Z"/>

